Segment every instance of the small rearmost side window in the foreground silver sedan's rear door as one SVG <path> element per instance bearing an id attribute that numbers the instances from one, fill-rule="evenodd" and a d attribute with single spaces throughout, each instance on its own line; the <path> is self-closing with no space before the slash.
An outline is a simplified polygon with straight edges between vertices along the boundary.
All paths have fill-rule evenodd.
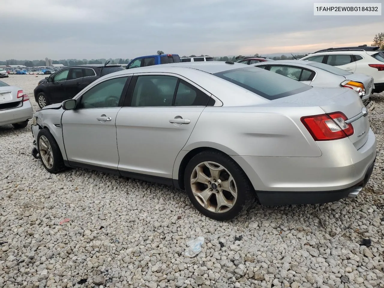
<path id="1" fill-rule="evenodd" d="M 191 84 L 180 80 L 177 88 L 175 106 L 207 106 L 209 96 Z"/>

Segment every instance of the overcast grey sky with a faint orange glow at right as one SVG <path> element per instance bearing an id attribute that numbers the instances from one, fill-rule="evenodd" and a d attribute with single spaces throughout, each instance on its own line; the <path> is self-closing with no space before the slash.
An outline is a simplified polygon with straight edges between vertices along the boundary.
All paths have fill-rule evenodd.
<path id="1" fill-rule="evenodd" d="M 314 16 L 308 0 L 0 2 L 0 60 L 313 52 L 384 32 L 384 16 Z"/>

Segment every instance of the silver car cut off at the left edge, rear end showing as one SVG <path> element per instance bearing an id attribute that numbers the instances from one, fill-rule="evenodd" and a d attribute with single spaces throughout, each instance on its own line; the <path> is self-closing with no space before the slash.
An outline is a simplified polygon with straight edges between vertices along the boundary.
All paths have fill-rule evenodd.
<path id="1" fill-rule="evenodd" d="M 31 102 L 23 89 L 0 81 L 0 126 L 12 124 L 15 129 L 24 128 L 32 115 Z"/>

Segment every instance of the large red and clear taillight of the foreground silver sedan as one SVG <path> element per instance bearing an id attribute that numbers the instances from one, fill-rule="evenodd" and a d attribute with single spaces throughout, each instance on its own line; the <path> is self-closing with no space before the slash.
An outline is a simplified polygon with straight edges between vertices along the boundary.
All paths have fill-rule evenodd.
<path id="1" fill-rule="evenodd" d="M 301 122 L 307 128 L 315 141 L 342 139 L 353 134 L 352 124 L 345 121 L 348 118 L 341 112 L 301 117 Z"/>

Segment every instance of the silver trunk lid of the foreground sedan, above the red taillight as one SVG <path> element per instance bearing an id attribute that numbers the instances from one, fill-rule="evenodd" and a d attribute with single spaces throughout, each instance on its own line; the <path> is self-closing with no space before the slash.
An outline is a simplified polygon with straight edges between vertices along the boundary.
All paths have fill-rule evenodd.
<path id="1" fill-rule="evenodd" d="M 299 94 L 275 99 L 273 102 L 319 106 L 325 113 L 342 112 L 349 120 L 354 120 L 351 122 L 354 133 L 349 136 L 349 139 L 356 149 L 361 148 L 368 139 L 369 120 L 368 117 L 362 116 L 362 111 L 366 111 L 366 108 L 359 95 L 352 89 L 314 87 Z M 361 117 L 358 118 L 359 116 Z"/>

